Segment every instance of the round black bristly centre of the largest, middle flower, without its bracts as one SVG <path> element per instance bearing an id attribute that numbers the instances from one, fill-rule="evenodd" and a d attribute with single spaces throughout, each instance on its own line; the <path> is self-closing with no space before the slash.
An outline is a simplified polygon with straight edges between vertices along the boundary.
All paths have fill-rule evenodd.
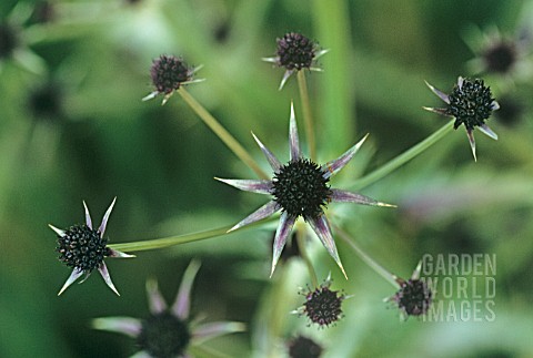
<path id="1" fill-rule="evenodd" d="M 283 165 L 272 180 L 274 201 L 292 217 L 315 218 L 330 201 L 330 178 L 308 158 Z"/>

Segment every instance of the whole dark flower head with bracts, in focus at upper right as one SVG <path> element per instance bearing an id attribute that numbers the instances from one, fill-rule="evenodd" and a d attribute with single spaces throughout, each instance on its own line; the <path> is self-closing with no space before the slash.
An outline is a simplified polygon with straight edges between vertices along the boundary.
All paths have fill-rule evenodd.
<path id="1" fill-rule="evenodd" d="M 424 109 L 454 117 L 455 122 L 453 123 L 453 127 L 455 130 L 463 124 L 466 129 L 466 135 L 469 136 L 474 160 L 477 160 L 475 156 L 474 129 L 477 127 L 482 133 L 493 140 L 497 140 L 497 135 L 485 124 L 485 121 L 491 116 L 492 112 L 500 108 L 497 102 L 492 98 L 491 89 L 485 86 L 483 80 L 463 79 L 462 76 L 457 79 L 457 84 L 454 85 L 450 94 L 445 94 L 428 82 L 426 84 L 433 93 L 446 102 L 447 106 L 445 109 Z"/>

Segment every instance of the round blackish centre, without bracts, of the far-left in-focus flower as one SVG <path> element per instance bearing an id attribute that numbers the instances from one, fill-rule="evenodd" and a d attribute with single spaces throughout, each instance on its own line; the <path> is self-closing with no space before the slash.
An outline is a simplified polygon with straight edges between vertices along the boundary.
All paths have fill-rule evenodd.
<path id="1" fill-rule="evenodd" d="M 56 250 L 60 254 L 59 260 L 86 274 L 98 268 L 110 253 L 108 239 L 100 237 L 99 231 L 86 224 L 71 226 L 63 236 L 58 237 Z"/>

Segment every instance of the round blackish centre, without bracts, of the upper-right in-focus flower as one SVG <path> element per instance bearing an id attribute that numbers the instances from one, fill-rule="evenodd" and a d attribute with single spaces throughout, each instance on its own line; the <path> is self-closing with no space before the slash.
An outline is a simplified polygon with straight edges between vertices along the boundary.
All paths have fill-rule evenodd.
<path id="1" fill-rule="evenodd" d="M 483 125 L 494 110 L 491 89 L 480 79 L 464 79 L 462 85 L 453 88 L 449 100 L 446 113 L 455 117 L 454 129 L 464 124 L 472 131 L 474 126 Z"/>

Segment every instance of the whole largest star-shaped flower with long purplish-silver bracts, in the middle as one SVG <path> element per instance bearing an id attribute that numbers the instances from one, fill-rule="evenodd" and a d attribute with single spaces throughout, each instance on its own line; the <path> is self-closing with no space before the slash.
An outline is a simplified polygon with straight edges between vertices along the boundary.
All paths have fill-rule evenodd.
<path id="1" fill-rule="evenodd" d="M 328 162 L 324 165 L 318 165 L 302 156 L 296 120 L 294 117 L 294 109 L 292 105 L 289 123 L 290 161 L 286 164 L 281 164 L 278 157 L 275 157 L 274 154 L 272 154 L 272 152 L 252 133 L 255 142 L 258 142 L 274 172 L 271 181 L 217 178 L 242 191 L 272 195 L 272 200 L 269 203 L 261 206 L 254 213 L 233 226 L 230 231 L 258 222 L 281 211 L 280 223 L 275 232 L 273 244 L 272 270 L 270 274 L 272 276 L 294 223 L 299 217 L 303 217 L 328 249 L 328 253 L 339 265 L 344 276 L 346 276 L 336 252 L 330 224 L 324 215 L 325 206 L 331 202 L 356 203 L 374 206 L 393 205 L 378 202 L 361 194 L 331 188 L 329 185 L 330 178 L 350 162 L 363 144 L 366 136 L 336 160 Z"/>

